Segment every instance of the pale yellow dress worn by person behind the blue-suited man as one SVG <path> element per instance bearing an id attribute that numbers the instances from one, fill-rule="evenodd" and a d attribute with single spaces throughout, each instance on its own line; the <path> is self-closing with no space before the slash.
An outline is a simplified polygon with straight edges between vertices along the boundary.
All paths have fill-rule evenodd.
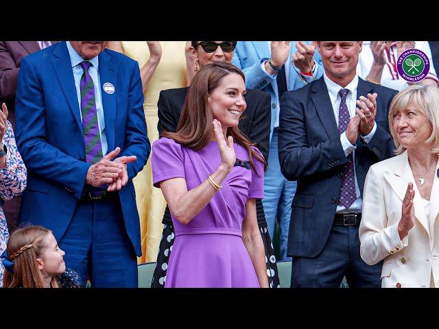
<path id="1" fill-rule="evenodd" d="M 122 41 L 123 53 L 137 60 L 141 68 L 148 58 L 150 50 L 145 41 Z M 186 41 L 161 41 L 162 56 L 154 75 L 145 90 L 145 119 L 148 138 L 151 145 L 158 139 L 157 101 L 161 90 L 187 86 L 186 78 Z M 158 245 L 163 232 L 163 213 L 165 212 L 165 197 L 160 188 L 152 186 L 151 154 L 145 167 L 133 180 L 136 190 L 137 210 L 140 217 L 142 256 L 137 262 L 155 262 Z"/>

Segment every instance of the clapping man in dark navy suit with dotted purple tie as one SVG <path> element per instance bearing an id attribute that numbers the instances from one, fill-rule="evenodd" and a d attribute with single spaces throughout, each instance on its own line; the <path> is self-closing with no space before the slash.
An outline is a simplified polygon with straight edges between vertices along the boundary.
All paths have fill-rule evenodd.
<path id="1" fill-rule="evenodd" d="M 370 165 L 390 158 L 396 90 L 356 73 L 361 41 L 320 41 L 324 75 L 281 99 L 279 162 L 297 180 L 289 225 L 292 287 L 381 287 L 381 264 L 359 254 L 361 197 Z"/>

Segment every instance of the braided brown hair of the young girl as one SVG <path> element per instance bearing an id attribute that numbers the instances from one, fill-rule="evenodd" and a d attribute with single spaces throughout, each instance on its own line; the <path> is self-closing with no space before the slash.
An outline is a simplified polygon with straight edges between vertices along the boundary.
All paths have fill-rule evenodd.
<path id="1" fill-rule="evenodd" d="M 9 259 L 14 263 L 14 273 L 5 271 L 3 287 L 5 288 L 44 288 L 36 258 L 43 254 L 47 245 L 44 239 L 51 233 L 43 226 L 25 226 L 12 232 L 7 252 Z M 58 288 L 56 276 L 51 279 L 51 287 Z"/>

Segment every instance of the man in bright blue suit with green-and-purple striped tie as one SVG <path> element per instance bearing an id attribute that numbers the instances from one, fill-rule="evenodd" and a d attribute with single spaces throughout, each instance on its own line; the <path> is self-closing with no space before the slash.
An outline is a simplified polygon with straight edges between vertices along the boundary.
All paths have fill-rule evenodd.
<path id="1" fill-rule="evenodd" d="M 60 42 L 21 62 L 16 136 L 27 167 L 20 223 L 52 230 L 93 287 L 137 287 L 132 178 L 150 154 L 139 64 L 104 41 Z"/>

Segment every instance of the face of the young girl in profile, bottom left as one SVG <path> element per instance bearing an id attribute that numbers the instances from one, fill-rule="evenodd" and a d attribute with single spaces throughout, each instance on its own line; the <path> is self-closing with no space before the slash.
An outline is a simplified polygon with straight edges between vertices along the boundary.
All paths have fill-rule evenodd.
<path id="1" fill-rule="evenodd" d="M 46 247 L 43 254 L 37 258 L 38 269 L 48 276 L 64 273 L 66 264 L 63 258 L 66 253 L 58 247 L 54 234 L 48 233 L 43 243 Z"/>

